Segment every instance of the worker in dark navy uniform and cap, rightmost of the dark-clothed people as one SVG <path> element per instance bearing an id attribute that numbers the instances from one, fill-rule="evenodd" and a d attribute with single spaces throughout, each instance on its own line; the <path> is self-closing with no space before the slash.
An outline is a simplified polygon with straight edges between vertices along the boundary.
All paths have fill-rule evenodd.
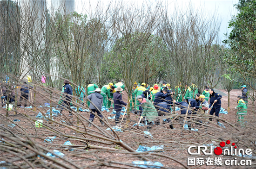
<path id="1" fill-rule="evenodd" d="M 215 113 L 215 116 L 219 117 L 219 113 L 222 106 L 222 95 L 215 93 L 214 90 L 211 88 L 209 89 L 210 94 L 210 115 L 213 115 Z M 213 107 L 211 107 L 213 105 Z M 212 121 L 212 118 L 209 118 L 210 121 Z M 219 120 L 217 120 L 217 124 L 219 123 Z"/>

